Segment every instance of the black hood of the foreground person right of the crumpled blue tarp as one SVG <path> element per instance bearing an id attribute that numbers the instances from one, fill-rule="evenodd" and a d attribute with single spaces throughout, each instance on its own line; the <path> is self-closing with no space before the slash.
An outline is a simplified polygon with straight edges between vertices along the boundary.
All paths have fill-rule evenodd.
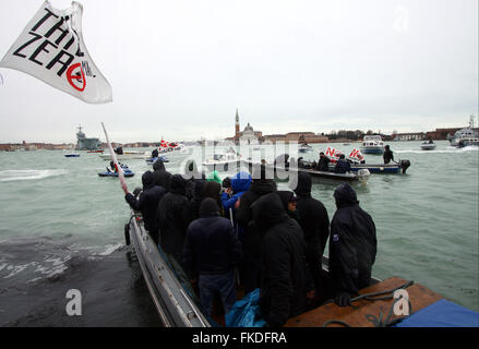
<path id="1" fill-rule="evenodd" d="M 261 196 L 251 207 L 253 209 L 254 224 L 260 230 L 267 230 L 288 219 L 288 215 L 283 208 L 282 200 L 276 193 Z"/>

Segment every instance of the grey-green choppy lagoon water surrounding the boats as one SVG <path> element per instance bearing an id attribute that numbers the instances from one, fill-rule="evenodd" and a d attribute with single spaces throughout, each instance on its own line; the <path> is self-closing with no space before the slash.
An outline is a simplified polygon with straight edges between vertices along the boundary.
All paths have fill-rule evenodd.
<path id="1" fill-rule="evenodd" d="M 426 152 L 419 144 L 391 143 L 396 160 L 411 163 L 406 174 L 371 174 L 367 184 L 355 184 L 376 225 L 373 275 L 415 280 L 479 311 L 478 148 L 456 149 L 443 141 Z M 313 146 L 349 154 L 358 145 Z M 272 147 L 265 155 L 273 155 Z M 176 172 L 184 155 L 169 159 L 166 167 Z M 125 163 L 136 172 L 127 179 L 132 191 L 151 166 Z M 130 210 L 123 192 L 118 179 L 97 176 L 108 161 L 86 152 L 65 158 L 38 151 L 0 153 L 0 325 L 158 325 L 137 262 L 124 246 Z M 313 184 L 330 218 L 334 189 Z M 65 314 L 71 288 L 84 294 L 83 316 Z"/>

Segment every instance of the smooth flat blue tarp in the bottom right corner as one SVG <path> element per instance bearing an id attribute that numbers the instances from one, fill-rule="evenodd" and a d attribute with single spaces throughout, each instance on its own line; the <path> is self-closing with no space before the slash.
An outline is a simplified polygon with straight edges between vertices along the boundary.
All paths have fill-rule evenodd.
<path id="1" fill-rule="evenodd" d="M 406 317 L 396 327 L 479 327 L 479 313 L 442 299 Z"/>

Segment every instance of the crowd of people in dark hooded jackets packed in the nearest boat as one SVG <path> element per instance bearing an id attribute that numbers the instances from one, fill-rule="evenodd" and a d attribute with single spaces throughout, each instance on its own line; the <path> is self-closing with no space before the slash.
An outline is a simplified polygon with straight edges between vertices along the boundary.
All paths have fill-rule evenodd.
<path id="1" fill-rule="evenodd" d="M 347 305 L 369 285 L 375 226 L 349 184 L 336 188 L 330 222 L 323 203 L 311 195 L 308 173 L 285 191 L 261 168 L 223 180 L 199 174 L 194 163 L 187 170 L 196 176 L 172 174 L 158 159 L 142 176 L 139 195 L 123 190 L 154 241 L 196 285 L 206 314 L 215 297 L 228 313 L 238 286 L 244 294 L 259 288 L 266 326 L 283 326 L 327 299 Z M 327 240 L 328 274 L 322 269 Z"/>

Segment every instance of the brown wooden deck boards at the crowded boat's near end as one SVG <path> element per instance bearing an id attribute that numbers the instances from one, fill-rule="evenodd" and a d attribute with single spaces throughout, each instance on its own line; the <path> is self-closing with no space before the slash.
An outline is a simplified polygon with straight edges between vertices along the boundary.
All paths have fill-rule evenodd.
<path id="1" fill-rule="evenodd" d="M 402 278 L 391 277 L 384 281 L 362 289 L 359 293 L 364 294 L 386 291 L 400 287 L 406 282 L 407 280 Z M 409 294 L 412 313 L 443 299 L 442 296 L 432 292 L 420 284 L 414 284 L 412 286 L 406 288 L 406 290 Z M 290 318 L 286 323 L 285 327 L 322 327 L 332 320 L 344 322 L 351 327 L 374 327 L 375 325 L 373 323 L 373 316 L 379 320 L 382 315 L 382 320 L 384 321 L 390 314 L 393 303 L 393 298 L 378 301 L 361 299 L 352 302 L 354 306 L 338 306 L 335 303 L 327 303 Z M 396 316 L 393 313 L 390 320 L 393 321 L 400 317 L 403 316 Z M 328 325 L 328 327 L 334 326 L 342 327 L 344 325 L 337 323 L 332 323 Z"/>

